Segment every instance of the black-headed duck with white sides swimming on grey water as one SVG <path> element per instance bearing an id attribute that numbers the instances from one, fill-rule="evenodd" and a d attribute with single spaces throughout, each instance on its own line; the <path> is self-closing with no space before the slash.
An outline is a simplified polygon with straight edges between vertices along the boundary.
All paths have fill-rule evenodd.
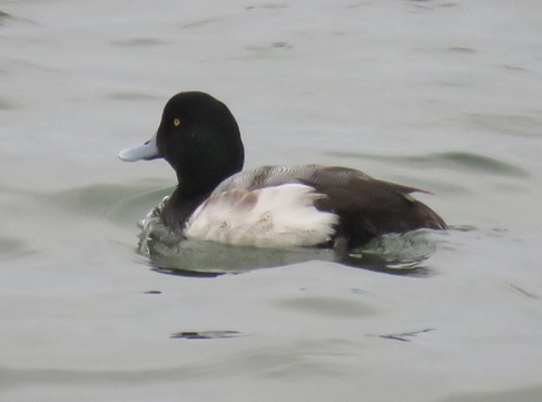
<path id="1" fill-rule="evenodd" d="M 425 190 L 342 166 L 263 166 L 243 170 L 245 148 L 229 108 L 183 91 L 166 104 L 156 134 L 121 150 L 125 161 L 164 158 L 177 188 L 161 222 L 184 239 L 233 246 L 351 251 L 385 234 L 447 225 L 412 196 Z"/>

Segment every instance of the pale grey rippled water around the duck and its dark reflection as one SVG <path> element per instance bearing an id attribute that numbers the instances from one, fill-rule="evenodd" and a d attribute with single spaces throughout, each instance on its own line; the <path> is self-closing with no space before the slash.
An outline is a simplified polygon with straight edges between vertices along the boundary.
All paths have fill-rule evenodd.
<path id="1" fill-rule="evenodd" d="M 0 11 L 2 400 L 540 401 L 539 2 Z M 116 154 L 189 89 L 231 108 L 247 168 L 358 168 L 454 229 L 423 275 L 152 271 L 136 224 L 175 176 Z"/>

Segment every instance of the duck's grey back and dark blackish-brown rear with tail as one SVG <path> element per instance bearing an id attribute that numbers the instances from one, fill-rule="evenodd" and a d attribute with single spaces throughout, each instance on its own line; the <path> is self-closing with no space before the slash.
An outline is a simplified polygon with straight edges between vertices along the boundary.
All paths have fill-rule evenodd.
<path id="1" fill-rule="evenodd" d="M 336 237 L 352 248 L 386 233 L 405 233 L 422 227 L 444 229 L 444 220 L 411 193 L 418 188 L 377 180 L 363 171 L 321 165 L 264 166 L 223 182 L 214 192 L 256 190 L 299 183 L 325 197 L 314 205 L 339 216 Z"/>

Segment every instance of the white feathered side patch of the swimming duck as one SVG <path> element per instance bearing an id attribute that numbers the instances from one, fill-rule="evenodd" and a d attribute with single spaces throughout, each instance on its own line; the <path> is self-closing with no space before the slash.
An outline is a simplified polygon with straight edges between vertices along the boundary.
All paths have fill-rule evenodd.
<path id="1" fill-rule="evenodd" d="M 213 194 L 194 212 L 185 235 L 237 246 L 314 246 L 329 241 L 338 222 L 314 207 L 319 197 L 302 184 Z"/>

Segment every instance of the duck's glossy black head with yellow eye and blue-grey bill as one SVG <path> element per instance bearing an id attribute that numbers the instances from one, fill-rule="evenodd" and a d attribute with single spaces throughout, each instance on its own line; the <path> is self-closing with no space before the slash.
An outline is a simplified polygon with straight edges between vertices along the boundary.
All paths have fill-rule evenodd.
<path id="1" fill-rule="evenodd" d="M 227 106 L 208 94 L 190 91 L 168 100 L 152 138 L 119 153 L 126 161 L 160 157 L 175 169 L 184 190 L 205 193 L 243 168 L 245 151 Z"/>

